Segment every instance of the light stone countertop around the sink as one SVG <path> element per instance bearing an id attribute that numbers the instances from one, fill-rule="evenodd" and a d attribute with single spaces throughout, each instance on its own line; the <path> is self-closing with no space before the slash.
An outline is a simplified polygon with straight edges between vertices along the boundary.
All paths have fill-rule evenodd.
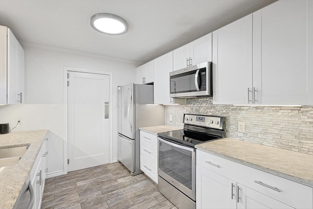
<path id="1" fill-rule="evenodd" d="M 12 209 L 14 207 L 47 131 L 13 132 L 0 135 L 0 149 L 30 145 L 18 163 L 0 167 L 0 209 Z"/>

